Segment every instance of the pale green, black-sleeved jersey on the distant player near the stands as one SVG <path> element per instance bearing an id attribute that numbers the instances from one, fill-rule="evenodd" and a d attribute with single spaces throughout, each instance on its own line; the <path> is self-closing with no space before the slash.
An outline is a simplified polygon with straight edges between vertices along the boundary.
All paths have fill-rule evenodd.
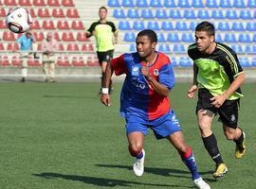
<path id="1" fill-rule="evenodd" d="M 114 49 L 114 32 L 117 31 L 116 26 L 112 22 L 101 23 L 101 21 L 93 23 L 87 30 L 90 33 L 94 32 L 97 51 L 106 52 Z"/>

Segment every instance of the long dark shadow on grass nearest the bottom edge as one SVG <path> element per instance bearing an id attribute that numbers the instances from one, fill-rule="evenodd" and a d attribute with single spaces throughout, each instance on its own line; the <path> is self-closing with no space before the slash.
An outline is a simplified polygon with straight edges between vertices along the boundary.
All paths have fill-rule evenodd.
<path id="1" fill-rule="evenodd" d="M 138 181 L 127 181 L 127 180 L 113 180 L 113 179 L 104 179 L 97 177 L 88 177 L 88 176 L 78 176 L 78 175 L 64 175 L 60 173 L 40 173 L 32 174 L 36 177 L 42 177 L 45 179 L 64 179 L 64 180 L 74 180 L 82 181 L 84 183 L 93 184 L 97 186 L 104 187 L 116 187 L 116 186 L 127 186 L 132 187 L 135 185 L 144 185 L 146 186 L 155 186 L 155 187 L 183 187 L 184 185 L 168 185 L 168 184 L 157 184 L 157 183 L 144 183 Z M 185 186 L 185 188 L 192 188 L 190 186 Z"/>

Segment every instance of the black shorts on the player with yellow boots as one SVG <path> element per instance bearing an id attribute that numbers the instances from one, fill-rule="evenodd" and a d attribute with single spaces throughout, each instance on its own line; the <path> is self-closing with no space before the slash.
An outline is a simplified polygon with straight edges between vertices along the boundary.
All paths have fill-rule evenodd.
<path id="1" fill-rule="evenodd" d="M 227 125 L 229 128 L 236 129 L 238 121 L 238 111 L 240 105 L 240 99 L 226 100 L 220 108 L 215 108 L 210 101 L 213 97 L 209 90 L 202 88 L 198 91 L 198 101 L 196 106 L 196 114 L 199 110 L 205 109 L 219 114 L 222 123 Z"/>

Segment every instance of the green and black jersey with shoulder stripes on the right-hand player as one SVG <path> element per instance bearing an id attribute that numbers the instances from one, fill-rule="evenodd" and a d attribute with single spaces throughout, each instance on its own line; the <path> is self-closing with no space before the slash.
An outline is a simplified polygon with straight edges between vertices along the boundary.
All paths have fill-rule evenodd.
<path id="1" fill-rule="evenodd" d="M 236 53 L 223 43 L 216 43 L 214 51 L 209 54 L 201 53 L 196 43 L 189 46 L 188 54 L 193 63 L 198 67 L 197 82 L 199 87 L 206 88 L 212 95 L 223 94 L 230 83 L 243 69 Z M 229 100 L 243 96 L 241 89 L 237 89 L 229 96 Z"/>

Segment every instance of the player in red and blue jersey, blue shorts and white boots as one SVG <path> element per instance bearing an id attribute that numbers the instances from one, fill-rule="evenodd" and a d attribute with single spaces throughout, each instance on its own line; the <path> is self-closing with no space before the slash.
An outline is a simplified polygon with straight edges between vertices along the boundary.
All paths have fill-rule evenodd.
<path id="1" fill-rule="evenodd" d="M 169 92 L 174 87 L 174 70 L 169 58 L 155 51 L 157 37 L 153 30 L 145 29 L 137 34 L 137 52 L 123 54 L 111 60 L 103 78 L 101 102 L 110 106 L 109 84 L 115 72 L 125 74 L 120 94 L 120 112 L 126 120 L 126 134 L 130 154 L 136 157 L 134 172 L 144 172 L 144 136 L 150 128 L 156 139 L 166 138 L 176 148 L 182 161 L 192 173 L 194 185 L 209 189 L 197 172 L 192 148 L 185 143 L 174 110 L 170 107 Z"/>

